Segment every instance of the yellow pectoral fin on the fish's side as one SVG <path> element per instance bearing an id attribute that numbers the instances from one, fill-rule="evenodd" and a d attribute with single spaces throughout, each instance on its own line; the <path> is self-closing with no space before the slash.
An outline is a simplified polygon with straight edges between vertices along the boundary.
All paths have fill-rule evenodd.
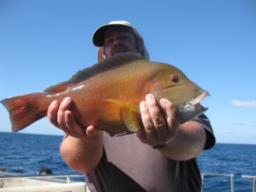
<path id="1" fill-rule="evenodd" d="M 129 131 L 136 132 L 141 127 L 142 121 L 141 121 L 141 113 L 139 113 L 139 107 L 130 105 L 121 101 L 118 101 L 117 99 L 106 99 L 103 101 L 107 101 L 110 103 L 115 103 L 119 105 L 122 109 L 122 114 L 123 114 L 123 121 L 125 121 L 125 125 L 127 126 Z"/>

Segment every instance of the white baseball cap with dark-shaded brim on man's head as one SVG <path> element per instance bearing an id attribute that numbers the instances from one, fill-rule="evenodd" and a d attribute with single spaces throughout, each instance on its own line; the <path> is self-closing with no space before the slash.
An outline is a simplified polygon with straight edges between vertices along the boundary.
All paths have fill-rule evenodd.
<path id="1" fill-rule="evenodd" d="M 94 31 L 93 44 L 97 47 L 102 47 L 104 45 L 104 36 L 106 32 L 113 27 L 127 27 L 128 29 L 133 31 L 133 33 L 136 35 L 137 38 L 142 39 L 141 35 L 138 33 L 135 27 L 131 25 L 131 23 L 127 21 L 111 21 L 110 23 L 106 25 L 102 25 L 101 27 L 99 27 L 97 30 Z M 149 60 L 149 53 L 147 53 L 145 44 L 143 47 L 143 53 L 145 55 L 145 58 Z"/>

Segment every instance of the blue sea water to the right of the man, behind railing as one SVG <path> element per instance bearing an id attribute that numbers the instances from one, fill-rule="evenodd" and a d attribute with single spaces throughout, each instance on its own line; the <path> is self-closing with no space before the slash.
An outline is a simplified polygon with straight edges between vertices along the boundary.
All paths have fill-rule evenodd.
<path id="1" fill-rule="evenodd" d="M 234 174 L 235 191 L 253 191 L 252 179 L 241 175 L 256 175 L 256 145 L 217 143 L 198 158 L 201 173 Z M 205 178 L 204 191 L 231 191 L 229 177 Z"/>

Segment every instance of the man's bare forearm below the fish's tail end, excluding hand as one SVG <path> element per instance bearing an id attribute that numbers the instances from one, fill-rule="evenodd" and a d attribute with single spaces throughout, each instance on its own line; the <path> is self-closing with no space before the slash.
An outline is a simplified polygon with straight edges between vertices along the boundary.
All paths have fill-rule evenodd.
<path id="1" fill-rule="evenodd" d="M 61 154 L 71 169 L 89 173 L 94 170 L 103 153 L 103 133 L 90 138 L 67 136 L 61 143 Z"/>

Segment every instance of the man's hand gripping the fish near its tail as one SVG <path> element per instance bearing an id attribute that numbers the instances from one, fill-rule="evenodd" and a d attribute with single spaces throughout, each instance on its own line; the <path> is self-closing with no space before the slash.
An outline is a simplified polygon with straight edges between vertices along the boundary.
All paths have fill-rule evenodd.
<path id="1" fill-rule="evenodd" d="M 58 101 L 51 102 L 47 111 L 49 121 L 73 137 L 81 138 L 96 134 L 97 130 L 95 130 L 94 126 L 89 126 L 85 130 L 75 121 L 73 114 L 69 110 L 71 102 L 69 97 L 63 99 L 61 104 Z"/>

